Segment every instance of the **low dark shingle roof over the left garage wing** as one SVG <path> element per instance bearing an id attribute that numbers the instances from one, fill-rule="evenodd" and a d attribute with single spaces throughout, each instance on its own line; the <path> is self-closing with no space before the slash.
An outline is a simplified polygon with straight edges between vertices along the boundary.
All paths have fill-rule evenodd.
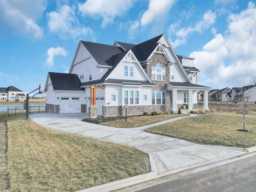
<path id="1" fill-rule="evenodd" d="M 49 76 L 54 90 L 84 91 L 77 74 L 49 72 Z"/>

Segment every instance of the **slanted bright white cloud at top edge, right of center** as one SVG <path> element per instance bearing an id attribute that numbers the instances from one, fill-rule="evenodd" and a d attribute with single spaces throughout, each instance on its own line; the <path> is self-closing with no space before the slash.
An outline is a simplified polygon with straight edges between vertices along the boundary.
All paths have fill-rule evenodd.
<path id="1" fill-rule="evenodd" d="M 174 5 L 176 0 L 150 0 L 148 10 L 144 12 L 140 23 L 145 26 L 151 23 L 153 20 L 165 20 L 166 14 L 168 14 L 170 8 Z"/>

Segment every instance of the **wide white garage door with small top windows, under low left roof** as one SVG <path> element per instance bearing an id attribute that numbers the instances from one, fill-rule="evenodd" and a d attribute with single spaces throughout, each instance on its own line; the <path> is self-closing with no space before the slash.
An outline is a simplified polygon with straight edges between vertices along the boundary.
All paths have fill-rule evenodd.
<path id="1" fill-rule="evenodd" d="M 60 113 L 80 113 L 81 100 L 79 97 L 60 97 Z"/>

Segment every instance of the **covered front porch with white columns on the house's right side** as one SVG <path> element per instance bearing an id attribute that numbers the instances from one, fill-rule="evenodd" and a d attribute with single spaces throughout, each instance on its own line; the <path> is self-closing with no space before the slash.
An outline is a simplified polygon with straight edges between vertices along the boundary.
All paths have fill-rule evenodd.
<path id="1" fill-rule="evenodd" d="M 167 84 L 167 90 L 170 91 L 171 112 L 178 111 L 178 105 L 188 105 L 188 110 L 193 110 L 193 106 L 197 104 L 197 92 L 204 92 L 204 109 L 208 110 L 208 91 L 210 87 L 184 83 L 170 82 Z"/>

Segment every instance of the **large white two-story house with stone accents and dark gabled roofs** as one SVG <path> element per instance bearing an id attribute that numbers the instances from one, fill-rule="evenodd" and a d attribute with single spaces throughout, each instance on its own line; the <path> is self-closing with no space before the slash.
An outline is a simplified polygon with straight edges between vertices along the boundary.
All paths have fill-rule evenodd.
<path id="1" fill-rule="evenodd" d="M 80 41 L 68 74 L 49 72 L 48 112 L 88 112 L 89 116 L 118 116 L 152 111 L 177 112 L 184 104 L 192 110 L 197 92 L 194 58 L 177 56 L 165 34 L 138 45 L 113 46 Z"/>

